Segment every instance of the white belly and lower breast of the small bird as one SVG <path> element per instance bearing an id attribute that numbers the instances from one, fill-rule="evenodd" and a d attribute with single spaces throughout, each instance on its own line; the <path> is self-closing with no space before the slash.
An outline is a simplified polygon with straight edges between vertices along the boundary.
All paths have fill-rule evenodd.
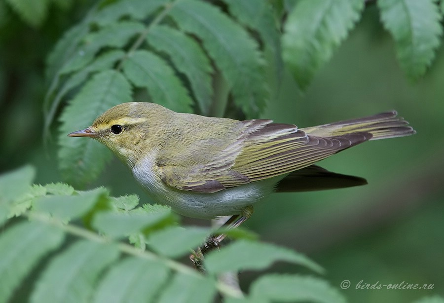
<path id="1" fill-rule="evenodd" d="M 257 181 L 214 193 L 199 193 L 173 189 L 165 185 L 156 173 L 154 159 L 146 157 L 133 168 L 136 180 L 159 204 L 166 204 L 186 217 L 212 219 L 239 214 L 241 209 L 262 199 L 284 176 Z"/>

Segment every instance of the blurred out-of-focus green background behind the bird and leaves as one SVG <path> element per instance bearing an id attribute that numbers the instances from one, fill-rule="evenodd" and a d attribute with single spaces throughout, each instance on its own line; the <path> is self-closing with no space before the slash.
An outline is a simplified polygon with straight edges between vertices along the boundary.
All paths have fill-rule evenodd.
<path id="1" fill-rule="evenodd" d="M 57 145 L 42 140 L 44 60 L 57 38 L 89 5 L 50 7 L 48 18 L 31 28 L 3 4 L 0 25 L 0 172 L 32 163 L 36 183 L 58 182 Z M 412 137 L 365 143 L 320 165 L 364 177 L 369 185 L 351 189 L 274 194 L 245 224 L 264 241 L 306 253 L 327 269 L 326 279 L 350 302 L 410 302 L 444 294 L 444 48 L 425 77 L 410 82 L 396 60 L 392 38 L 374 5 L 301 93 L 285 73 L 277 98 L 261 118 L 299 127 L 396 109 L 416 129 Z M 53 135 L 56 134 L 54 125 Z M 54 136 L 55 137 L 55 136 Z M 99 144 L 99 143 L 98 143 Z M 148 199 L 129 171 L 113 160 L 95 184 L 113 195 L 136 192 Z M 184 219 L 185 224 L 208 224 Z M 276 265 L 286 272 L 289 268 Z M 242 274 L 246 285 L 255 273 Z M 357 290 L 374 284 L 434 284 L 433 290 Z M 248 285 L 247 285 L 248 286 Z"/>

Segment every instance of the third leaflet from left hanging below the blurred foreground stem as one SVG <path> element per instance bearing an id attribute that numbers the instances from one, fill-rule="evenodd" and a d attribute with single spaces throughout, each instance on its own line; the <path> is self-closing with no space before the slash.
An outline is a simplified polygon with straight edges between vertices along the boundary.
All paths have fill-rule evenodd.
<path id="1" fill-rule="evenodd" d="M 169 269 L 162 263 L 128 258 L 106 273 L 93 302 L 154 302 L 168 275 Z"/>

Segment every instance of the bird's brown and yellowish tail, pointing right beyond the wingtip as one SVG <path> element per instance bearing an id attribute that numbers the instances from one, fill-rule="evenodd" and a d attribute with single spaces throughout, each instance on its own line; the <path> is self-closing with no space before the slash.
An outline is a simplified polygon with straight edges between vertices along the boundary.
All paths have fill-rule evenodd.
<path id="1" fill-rule="evenodd" d="M 319 137 L 335 137 L 364 132 L 372 135 L 370 140 L 404 137 L 415 134 L 416 131 L 411 126 L 408 126 L 408 122 L 402 117 L 397 117 L 397 114 L 396 111 L 390 111 L 364 118 L 301 128 L 301 130 L 309 135 Z"/>

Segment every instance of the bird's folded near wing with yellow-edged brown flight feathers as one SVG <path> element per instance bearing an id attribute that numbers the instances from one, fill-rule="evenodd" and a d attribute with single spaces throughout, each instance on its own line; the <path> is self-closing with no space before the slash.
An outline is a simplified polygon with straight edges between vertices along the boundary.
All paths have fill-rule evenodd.
<path id="1" fill-rule="evenodd" d="M 220 150 L 207 142 L 197 142 L 192 151 L 195 155 L 182 157 L 186 161 L 160 160 L 161 180 L 176 189 L 216 192 L 290 173 L 371 138 L 365 132 L 316 137 L 295 125 L 271 122 L 242 121 L 236 139 Z M 206 148 L 213 150 L 207 153 Z M 199 152 L 211 156 L 202 159 Z"/>

